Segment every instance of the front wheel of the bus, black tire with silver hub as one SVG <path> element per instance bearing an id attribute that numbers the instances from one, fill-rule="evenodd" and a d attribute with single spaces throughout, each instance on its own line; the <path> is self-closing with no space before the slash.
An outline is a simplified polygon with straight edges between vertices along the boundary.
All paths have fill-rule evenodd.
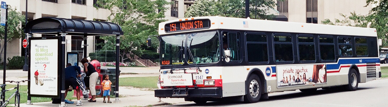
<path id="1" fill-rule="evenodd" d="M 260 97 L 262 97 L 263 93 L 263 85 L 262 82 L 256 74 L 252 74 L 249 76 L 246 82 L 246 95 L 244 95 L 245 103 L 255 103 L 259 102 Z"/>

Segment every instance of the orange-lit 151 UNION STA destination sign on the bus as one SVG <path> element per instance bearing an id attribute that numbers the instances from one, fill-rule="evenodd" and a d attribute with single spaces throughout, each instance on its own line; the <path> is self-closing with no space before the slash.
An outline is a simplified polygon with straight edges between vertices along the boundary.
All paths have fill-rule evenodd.
<path id="1" fill-rule="evenodd" d="M 186 30 L 197 30 L 210 28 L 209 19 L 197 19 L 197 20 L 187 20 L 180 22 L 168 23 L 165 25 L 166 32 L 178 32 Z"/>

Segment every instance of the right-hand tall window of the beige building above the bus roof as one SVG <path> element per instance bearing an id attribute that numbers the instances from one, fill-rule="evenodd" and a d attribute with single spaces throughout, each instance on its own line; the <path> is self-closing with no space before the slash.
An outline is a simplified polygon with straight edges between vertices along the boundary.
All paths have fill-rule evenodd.
<path id="1" fill-rule="evenodd" d="M 318 23 L 318 0 L 306 0 L 306 23 Z"/>

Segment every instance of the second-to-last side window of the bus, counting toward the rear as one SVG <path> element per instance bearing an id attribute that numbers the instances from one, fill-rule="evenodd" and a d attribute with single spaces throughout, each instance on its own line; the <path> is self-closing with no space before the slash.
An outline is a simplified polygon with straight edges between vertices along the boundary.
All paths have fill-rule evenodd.
<path id="1" fill-rule="evenodd" d="M 352 38 L 338 37 L 338 53 L 340 56 L 352 56 Z"/>

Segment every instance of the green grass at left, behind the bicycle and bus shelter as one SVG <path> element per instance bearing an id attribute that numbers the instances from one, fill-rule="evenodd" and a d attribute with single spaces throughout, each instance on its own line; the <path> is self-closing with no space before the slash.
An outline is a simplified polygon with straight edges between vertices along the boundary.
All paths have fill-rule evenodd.
<path id="1" fill-rule="evenodd" d="M 12 87 L 16 87 L 16 85 L 9 85 L 5 86 L 5 89 L 10 89 Z M 28 85 L 19 85 L 19 90 L 20 90 L 20 104 L 26 103 L 27 102 L 27 89 Z M 14 94 L 15 90 L 10 90 L 8 92 L 5 92 L 5 99 L 8 99 L 12 94 Z M 68 92 L 68 96 L 66 99 L 77 99 L 76 97 L 73 97 L 74 91 Z M 31 102 L 49 102 L 52 101 L 51 98 L 43 98 L 43 97 L 31 97 Z M 74 100 L 73 100 L 74 101 Z M 15 104 L 15 97 L 12 97 L 9 105 Z M 12 106 L 12 105 L 11 105 Z"/>

